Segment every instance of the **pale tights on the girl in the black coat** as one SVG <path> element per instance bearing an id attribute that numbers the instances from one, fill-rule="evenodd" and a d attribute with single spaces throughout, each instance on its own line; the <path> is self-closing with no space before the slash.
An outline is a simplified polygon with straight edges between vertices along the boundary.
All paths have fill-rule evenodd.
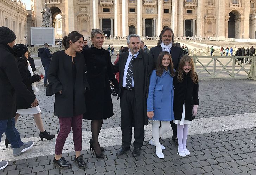
<path id="1" fill-rule="evenodd" d="M 186 148 L 187 134 L 188 134 L 188 124 L 184 124 L 184 125 L 177 124 L 177 138 L 178 138 L 180 152 L 183 152 L 184 149 L 187 149 Z"/>

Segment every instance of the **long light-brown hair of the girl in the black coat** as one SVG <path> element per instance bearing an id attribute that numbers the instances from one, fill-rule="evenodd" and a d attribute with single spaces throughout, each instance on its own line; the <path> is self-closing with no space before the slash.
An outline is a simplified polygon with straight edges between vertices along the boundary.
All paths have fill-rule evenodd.
<path id="1" fill-rule="evenodd" d="M 179 82 L 183 81 L 183 66 L 185 65 L 186 61 L 191 64 L 190 77 L 191 77 L 192 81 L 194 83 L 198 83 L 198 76 L 197 76 L 197 73 L 195 72 L 194 62 L 193 62 L 192 57 L 189 55 L 184 55 L 180 59 L 178 76 L 177 76 L 178 81 Z"/>

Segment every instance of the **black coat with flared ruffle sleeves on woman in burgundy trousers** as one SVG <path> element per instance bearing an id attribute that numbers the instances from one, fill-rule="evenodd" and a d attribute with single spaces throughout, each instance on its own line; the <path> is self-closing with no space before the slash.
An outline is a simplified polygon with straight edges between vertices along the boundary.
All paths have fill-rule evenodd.
<path id="1" fill-rule="evenodd" d="M 73 58 L 76 67 L 75 80 L 73 79 L 72 57 L 64 50 L 53 54 L 48 69 L 49 85 L 46 95 L 55 94 L 54 114 L 58 117 L 73 117 L 86 112 L 85 91 L 89 85 L 85 73 L 84 56 L 78 52 L 76 54 Z M 61 94 L 60 90 L 62 90 Z"/>

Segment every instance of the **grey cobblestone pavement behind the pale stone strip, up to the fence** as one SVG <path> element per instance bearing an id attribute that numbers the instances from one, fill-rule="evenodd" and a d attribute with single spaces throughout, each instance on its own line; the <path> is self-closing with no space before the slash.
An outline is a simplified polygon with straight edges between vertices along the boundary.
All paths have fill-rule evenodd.
<path id="1" fill-rule="evenodd" d="M 46 96 L 43 83 L 37 85 L 41 115 L 45 129 L 58 134 L 59 120 L 53 114 L 54 96 Z M 249 79 L 200 79 L 198 114 L 196 118 L 218 117 L 256 112 L 256 81 Z M 119 100 L 112 97 L 114 116 L 103 121 L 102 128 L 121 127 Z M 82 131 L 91 130 L 90 120 L 83 120 Z M 22 115 L 16 124 L 21 138 L 38 137 L 33 115 Z M 5 136 L 3 136 L 3 139 Z"/>

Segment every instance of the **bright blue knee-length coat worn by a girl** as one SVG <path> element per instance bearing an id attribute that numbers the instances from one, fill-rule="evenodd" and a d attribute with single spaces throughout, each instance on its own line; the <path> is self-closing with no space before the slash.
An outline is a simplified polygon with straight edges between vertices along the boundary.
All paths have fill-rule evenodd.
<path id="1" fill-rule="evenodd" d="M 172 121 L 173 113 L 173 77 L 164 71 L 162 76 L 152 71 L 147 98 L 147 112 L 154 111 L 152 120 Z"/>

